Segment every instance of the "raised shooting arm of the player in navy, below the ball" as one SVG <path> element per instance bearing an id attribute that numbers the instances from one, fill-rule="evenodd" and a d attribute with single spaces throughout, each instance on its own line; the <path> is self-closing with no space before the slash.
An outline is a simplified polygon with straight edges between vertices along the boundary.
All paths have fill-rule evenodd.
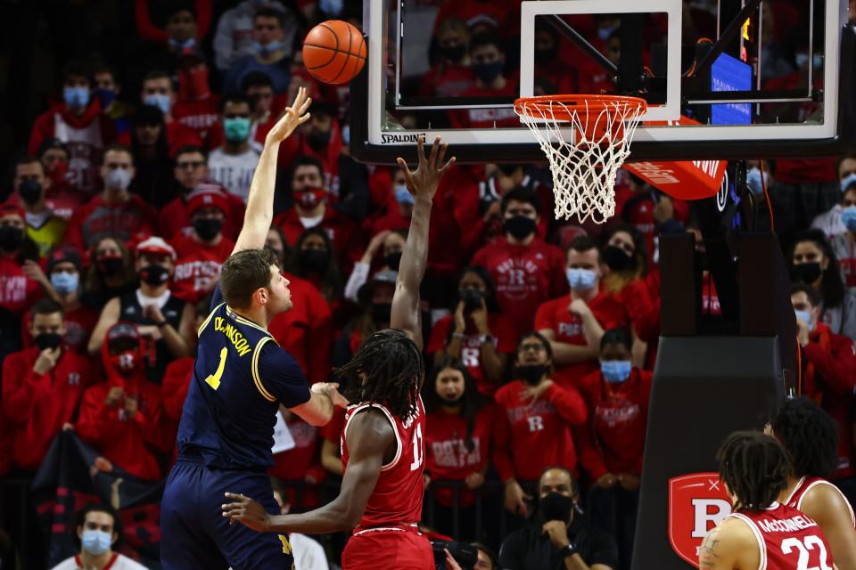
<path id="1" fill-rule="evenodd" d="M 259 156 L 259 164 L 252 175 L 247 209 L 243 216 L 243 227 L 235 242 L 235 251 L 265 247 L 268 230 L 274 220 L 274 190 L 276 188 L 276 160 L 279 144 L 288 138 L 300 124 L 309 120 L 309 105 L 312 99 L 306 89 L 300 87 L 291 107 L 285 109 L 283 117 L 268 133 L 265 147 Z"/>

